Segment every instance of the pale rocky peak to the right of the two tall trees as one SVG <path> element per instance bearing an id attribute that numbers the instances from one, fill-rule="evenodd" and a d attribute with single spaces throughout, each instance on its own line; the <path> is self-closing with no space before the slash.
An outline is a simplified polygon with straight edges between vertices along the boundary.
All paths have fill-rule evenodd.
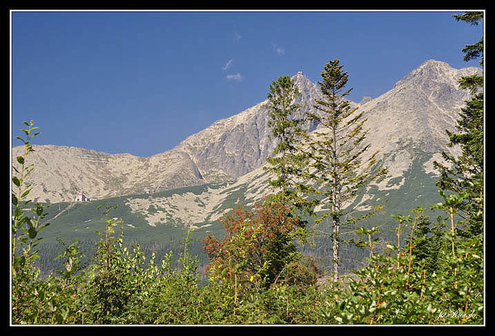
<path id="1" fill-rule="evenodd" d="M 404 141 L 426 152 L 445 149 L 445 130 L 455 130 L 460 108 L 469 99 L 469 92 L 458 88 L 457 79 L 473 73 L 481 69 L 456 70 L 444 62 L 425 61 L 394 88 L 360 106 L 371 129 L 368 141 L 385 153 L 394 152 Z"/>

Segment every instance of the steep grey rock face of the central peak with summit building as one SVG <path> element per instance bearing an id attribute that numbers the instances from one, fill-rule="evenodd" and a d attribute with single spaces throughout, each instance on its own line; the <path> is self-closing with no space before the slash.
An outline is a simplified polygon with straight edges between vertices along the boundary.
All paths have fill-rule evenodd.
<path id="1" fill-rule="evenodd" d="M 299 72 L 293 77 L 301 95 L 296 101 L 304 110 L 312 110 L 315 99 L 321 97 L 318 86 Z M 202 172 L 205 181 L 235 179 L 265 163 L 275 142 L 270 141 L 271 129 L 267 126 L 268 101 L 240 112 L 238 115 L 216 121 L 210 127 L 191 135 L 177 149 L 187 152 Z M 301 116 L 298 116 L 301 117 Z M 314 130 L 316 124 L 305 125 Z"/>

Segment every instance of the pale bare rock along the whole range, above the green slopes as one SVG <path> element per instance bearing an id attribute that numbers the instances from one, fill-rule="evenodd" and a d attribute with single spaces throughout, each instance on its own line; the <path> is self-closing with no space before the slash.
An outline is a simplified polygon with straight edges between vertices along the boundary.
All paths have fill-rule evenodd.
<path id="1" fill-rule="evenodd" d="M 456 70 L 429 60 L 380 97 L 353 103 L 368 119 L 370 152 L 380 150 L 380 159 L 398 176 L 411 160 L 405 144 L 431 153 L 445 149 L 445 129 L 455 130 L 458 112 L 469 99 L 469 92 L 458 88 L 457 79 L 481 71 L 476 67 Z M 302 72 L 293 78 L 301 92 L 297 103 L 303 106 L 302 113 L 315 112 L 313 103 L 321 99 L 319 87 Z M 34 146 L 35 152 L 28 157 L 29 164 L 35 165 L 28 179 L 33 184 L 30 197 L 55 203 L 72 201 L 81 190 L 91 199 L 99 199 L 235 180 L 265 164 L 275 147 L 269 140 L 266 103 L 215 121 L 176 148 L 152 157 Z M 305 126 L 310 131 L 318 127 L 310 122 Z M 22 146 L 12 148 L 12 165 L 17 165 L 15 157 L 22 150 Z"/>

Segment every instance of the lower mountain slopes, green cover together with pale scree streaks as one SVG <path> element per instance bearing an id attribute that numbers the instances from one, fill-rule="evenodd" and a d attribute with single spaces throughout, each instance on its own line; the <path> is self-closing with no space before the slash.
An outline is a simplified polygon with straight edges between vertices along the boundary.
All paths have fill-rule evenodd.
<path id="1" fill-rule="evenodd" d="M 429 209 L 430 204 L 440 201 L 438 188 L 436 188 L 436 175 L 427 172 L 433 155 L 416 147 L 404 147 L 402 150 L 411 156 L 411 165 L 401 177 L 387 179 L 369 186 L 367 190 L 356 197 L 350 208 L 366 210 L 377 204 L 384 204 L 385 208 L 375 217 L 360 222 L 359 226 L 379 226 L 380 237 L 384 240 L 395 241 L 396 222 L 391 215 L 407 215 L 411 206 L 423 206 Z M 390 158 L 391 161 L 394 157 Z M 208 259 L 202 253 L 202 239 L 211 234 L 215 237 L 223 237 L 224 229 L 220 219 L 227 211 L 235 208 L 237 204 L 250 207 L 256 201 L 262 201 L 264 195 L 271 192 L 266 183 L 266 173 L 262 168 L 241 177 L 237 181 L 222 184 L 204 184 L 157 192 L 151 195 L 128 195 L 112 197 L 89 202 L 73 202 L 52 204 L 48 208 L 47 219 L 50 226 L 43 230 L 41 249 L 48 257 L 55 257 L 57 238 L 70 241 L 78 237 L 86 246 L 92 246 L 100 238 L 95 232 L 105 230 L 105 208 L 117 206 L 108 211 L 109 218 L 122 219 L 119 225 L 124 232 L 124 241 L 141 244 L 151 253 L 157 250 L 157 255 L 164 255 L 169 251 L 175 251 L 178 255 L 184 243 L 187 230 L 192 229 L 191 250 L 198 256 L 200 265 L 204 266 Z M 141 207 L 137 207 L 139 204 Z M 97 209 L 99 207 L 99 209 Z M 309 218 L 309 228 L 313 230 L 315 246 L 302 246 L 305 254 L 322 258 L 322 265 L 329 264 L 331 255 L 331 241 L 324 237 L 322 232 L 330 232 L 329 224 L 323 222 L 314 225 L 314 218 Z M 349 239 L 351 235 L 347 235 Z M 90 249 L 86 253 L 91 255 Z M 365 262 L 369 251 L 356 248 L 351 244 L 342 248 L 342 270 L 347 272 L 357 265 Z M 48 266 L 47 266 L 48 269 Z"/>

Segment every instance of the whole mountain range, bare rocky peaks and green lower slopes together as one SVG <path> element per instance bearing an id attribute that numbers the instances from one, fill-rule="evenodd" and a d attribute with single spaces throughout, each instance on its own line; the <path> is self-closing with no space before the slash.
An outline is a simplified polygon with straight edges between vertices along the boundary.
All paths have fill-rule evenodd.
<path id="1" fill-rule="evenodd" d="M 379 163 L 389 170 L 387 177 L 367 186 L 350 204 L 356 210 L 385 204 L 383 215 L 365 225 L 393 228 L 391 214 L 407 214 L 416 206 L 429 208 L 441 201 L 433 162 L 441 161 L 442 150 L 458 154 L 458 149 L 447 148 L 445 130 L 456 131 L 460 108 L 470 98 L 467 90 L 458 87 L 457 79 L 482 71 L 476 67 L 454 69 L 445 62 L 428 60 L 383 95 L 351 102 L 367 118 L 368 152 L 379 150 Z M 318 85 L 302 72 L 293 79 L 301 92 L 297 103 L 304 106 L 303 111 L 316 112 L 312 103 L 322 98 Z M 218 120 L 175 148 L 151 157 L 33 146 L 35 152 L 28 156 L 28 163 L 35 166 L 28 179 L 32 183 L 29 196 L 52 204 L 43 244 L 55 246 L 55 237 L 94 240 L 95 230 L 104 230 L 102 210 L 97 210 L 104 204 L 117 206 L 111 216 L 123 219 L 126 235 L 133 241 L 165 244 L 159 245 L 165 250 L 177 248 L 184 230 L 194 228 L 196 250 L 200 251 L 202 237 L 222 234 L 218 220 L 224 213 L 236 204 L 251 206 L 273 191 L 263 169 L 275 146 L 269 140 L 266 102 Z M 307 123 L 305 127 L 313 131 L 319 125 Z M 22 150 L 23 146 L 12 148 L 13 166 Z M 81 191 L 91 201 L 75 202 Z M 328 244 L 320 246 L 328 248 Z M 323 250 L 310 253 L 330 255 Z M 362 251 L 342 253 L 342 258 L 349 258 L 349 269 L 366 257 Z"/>

